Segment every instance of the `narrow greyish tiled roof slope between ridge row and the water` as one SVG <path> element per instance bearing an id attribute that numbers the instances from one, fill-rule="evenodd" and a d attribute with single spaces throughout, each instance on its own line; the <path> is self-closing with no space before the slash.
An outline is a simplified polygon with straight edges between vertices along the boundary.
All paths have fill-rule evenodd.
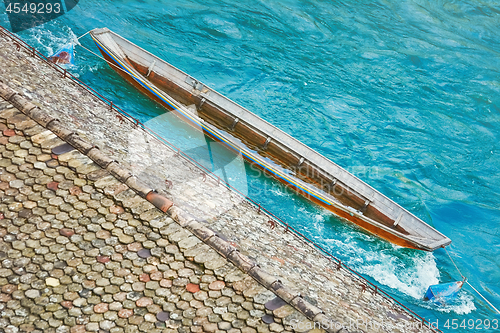
<path id="1" fill-rule="evenodd" d="M 123 123 L 109 106 L 61 78 L 50 66 L 29 57 L 26 51 L 16 51 L 7 37 L 0 36 L 0 59 L 0 79 L 58 117 L 71 131 L 98 143 L 102 151 L 149 186 L 208 223 L 285 285 L 301 291 L 326 315 L 343 323 L 377 320 L 389 327 L 369 330 L 374 332 L 430 331 L 394 328 L 417 321 L 392 301 L 363 292 L 356 278 L 338 271 L 334 263 L 290 233 L 271 230 L 268 218 L 241 197 L 213 180 L 204 181 L 199 169 L 133 125 Z M 171 188 L 165 187 L 165 179 L 172 182 Z"/>

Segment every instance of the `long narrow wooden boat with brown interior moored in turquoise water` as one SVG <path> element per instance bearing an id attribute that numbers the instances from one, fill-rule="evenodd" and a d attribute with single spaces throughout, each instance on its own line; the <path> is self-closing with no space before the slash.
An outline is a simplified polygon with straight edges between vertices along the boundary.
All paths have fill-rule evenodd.
<path id="1" fill-rule="evenodd" d="M 107 28 L 90 35 L 111 67 L 140 91 L 336 215 L 403 247 L 433 251 L 451 243 L 359 178 L 168 62 Z M 193 104 L 196 112 L 186 107 Z"/>

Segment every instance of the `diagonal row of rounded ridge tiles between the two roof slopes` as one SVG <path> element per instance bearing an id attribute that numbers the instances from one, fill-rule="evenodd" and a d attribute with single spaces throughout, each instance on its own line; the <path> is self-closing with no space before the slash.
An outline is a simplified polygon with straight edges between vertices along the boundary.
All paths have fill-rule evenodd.
<path id="1" fill-rule="evenodd" d="M 19 94 L 0 80 L 0 97 L 11 103 L 17 110 L 30 117 L 42 127 L 47 128 L 56 134 L 60 139 L 66 141 L 72 147 L 89 157 L 102 169 L 107 170 L 117 180 L 129 186 L 138 195 L 145 198 L 156 208 L 177 222 L 181 227 L 191 231 L 202 242 L 217 251 L 222 257 L 227 259 L 238 269 L 250 275 L 255 281 L 266 289 L 278 295 L 283 301 L 290 304 L 307 319 L 316 323 L 329 323 L 325 331 L 332 333 L 348 333 L 344 328 L 335 329 L 337 321 L 326 316 L 321 309 L 308 302 L 302 295 L 282 284 L 275 276 L 268 274 L 258 266 L 256 262 L 242 254 L 228 241 L 223 240 L 213 230 L 197 222 L 190 214 L 186 213 L 164 196 L 149 188 L 128 170 L 122 168 L 118 162 L 103 154 L 99 148 L 89 143 L 77 133 L 71 132 L 62 126 L 62 123 L 50 116 L 45 111 L 29 102 L 22 94 Z M 333 326 L 333 327 L 332 327 Z M 339 325 L 340 327 L 340 325 Z"/>

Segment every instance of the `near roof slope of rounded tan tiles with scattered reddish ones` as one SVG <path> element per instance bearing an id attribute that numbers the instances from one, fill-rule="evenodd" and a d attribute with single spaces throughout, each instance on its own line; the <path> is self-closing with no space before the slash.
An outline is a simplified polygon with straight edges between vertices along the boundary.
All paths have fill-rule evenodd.
<path id="1" fill-rule="evenodd" d="M 289 305 L 266 309 L 272 292 L 88 157 L 53 154 L 53 133 L 12 108 L 0 117 L 0 330 L 282 332 L 305 321 Z"/>

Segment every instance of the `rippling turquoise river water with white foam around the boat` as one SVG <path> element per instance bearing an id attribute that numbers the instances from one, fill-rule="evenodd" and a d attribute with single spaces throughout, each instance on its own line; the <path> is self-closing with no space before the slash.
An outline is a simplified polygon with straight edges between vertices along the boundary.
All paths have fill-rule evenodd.
<path id="1" fill-rule="evenodd" d="M 20 35 L 49 54 L 104 26 L 446 234 L 462 273 L 500 307 L 500 1 L 82 0 Z M 77 63 L 83 81 L 190 148 L 189 129 L 154 121 L 162 109 L 102 60 L 80 49 Z M 247 181 L 251 197 L 444 331 L 473 331 L 447 319 L 500 320 L 469 287 L 445 307 L 421 300 L 428 285 L 460 278 L 443 250 L 375 239 L 249 167 Z"/>

